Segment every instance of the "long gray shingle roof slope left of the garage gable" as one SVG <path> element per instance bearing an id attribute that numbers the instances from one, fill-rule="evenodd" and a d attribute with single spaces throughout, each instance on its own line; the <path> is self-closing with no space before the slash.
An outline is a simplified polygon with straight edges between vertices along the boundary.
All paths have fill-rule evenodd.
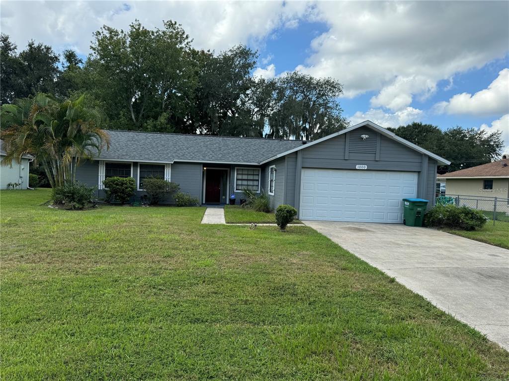
<path id="1" fill-rule="evenodd" d="M 158 134 L 108 130 L 111 145 L 101 160 L 203 161 L 258 164 L 302 145 L 300 140 L 236 138 L 209 135 Z"/>

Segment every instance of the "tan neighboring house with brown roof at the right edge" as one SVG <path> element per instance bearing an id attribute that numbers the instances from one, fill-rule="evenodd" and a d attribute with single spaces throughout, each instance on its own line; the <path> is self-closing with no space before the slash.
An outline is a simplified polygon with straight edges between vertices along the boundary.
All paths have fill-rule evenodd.
<path id="1" fill-rule="evenodd" d="M 491 208 L 493 203 L 488 203 L 488 201 L 497 197 L 505 201 L 504 210 L 507 209 L 509 158 L 502 158 L 497 162 L 438 175 L 437 180 L 445 180 L 445 194 L 448 196 L 478 198 L 483 200 L 485 209 Z M 499 206 L 501 207 L 502 204 L 499 203 Z"/>

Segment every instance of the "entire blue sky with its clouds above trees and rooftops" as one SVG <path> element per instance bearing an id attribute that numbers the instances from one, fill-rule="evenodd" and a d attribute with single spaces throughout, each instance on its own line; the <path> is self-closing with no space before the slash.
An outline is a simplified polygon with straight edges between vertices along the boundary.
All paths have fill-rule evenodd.
<path id="1" fill-rule="evenodd" d="M 197 48 L 258 49 L 253 75 L 292 70 L 344 85 L 352 123 L 501 131 L 509 151 L 509 2 L 3 1 L 1 29 L 89 52 L 103 24 L 181 23 Z M 76 17 L 78 15 L 79 17 Z M 20 26 L 22 25 L 22 26 Z"/>

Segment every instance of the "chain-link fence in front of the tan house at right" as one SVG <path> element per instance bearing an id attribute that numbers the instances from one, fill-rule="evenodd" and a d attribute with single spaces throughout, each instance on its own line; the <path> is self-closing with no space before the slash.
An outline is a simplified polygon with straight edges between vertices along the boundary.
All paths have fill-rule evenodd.
<path id="1" fill-rule="evenodd" d="M 483 196 L 438 195 L 436 204 L 465 205 L 482 211 L 486 217 L 493 220 L 493 225 L 495 225 L 495 221 L 509 223 L 509 199 Z"/>

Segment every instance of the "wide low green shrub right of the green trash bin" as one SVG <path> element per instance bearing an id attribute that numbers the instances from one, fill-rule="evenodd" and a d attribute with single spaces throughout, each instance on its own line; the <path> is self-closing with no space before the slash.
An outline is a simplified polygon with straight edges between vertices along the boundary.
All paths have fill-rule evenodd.
<path id="1" fill-rule="evenodd" d="M 482 211 L 468 206 L 436 205 L 424 216 L 425 226 L 459 230 L 480 229 L 486 221 L 487 218 Z"/>

